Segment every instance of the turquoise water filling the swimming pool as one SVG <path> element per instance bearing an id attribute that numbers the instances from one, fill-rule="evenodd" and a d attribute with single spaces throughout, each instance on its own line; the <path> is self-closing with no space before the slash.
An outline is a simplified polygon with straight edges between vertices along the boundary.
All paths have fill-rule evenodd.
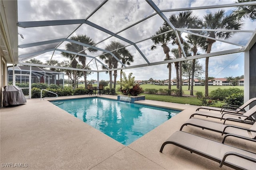
<path id="1" fill-rule="evenodd" d="M 180 112 L 102 98 L 52 103 L 126 146 Z"/>

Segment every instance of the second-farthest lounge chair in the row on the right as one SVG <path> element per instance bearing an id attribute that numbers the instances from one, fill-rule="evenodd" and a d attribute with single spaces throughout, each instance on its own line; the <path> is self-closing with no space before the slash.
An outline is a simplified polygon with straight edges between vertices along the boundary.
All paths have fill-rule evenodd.
<path id="1" fill-rule="evenodd" d="M 256 105 L 254 107 L 252 107 L 250 110 L 248 110 L 246 113 L 244 113 L 243 115 L 241 114 L 236 114 L 236 113 L 225 113 L 222 112 L 222 114 L 220 113 L 212 113 L 212 112 L 204 112 L 204 111 L 196 111 L 195 113 L 193 113 L 190 118 L 194 117 L 195 115 L 200 115 L 200 116 L 204 116 L 204 117 L 212 117 L 212 118 L 216 118 L 216 119 L 227 119 L 229 121 L 235 121 L 237 122 L 237 119 L 240 119 L 244 122 L 248 122 L 249 124 L 251 124 L 252 122 L 255 122 L 254 117 L 252 117 L 252 115 L 254 115 L 256 113 Z"/>

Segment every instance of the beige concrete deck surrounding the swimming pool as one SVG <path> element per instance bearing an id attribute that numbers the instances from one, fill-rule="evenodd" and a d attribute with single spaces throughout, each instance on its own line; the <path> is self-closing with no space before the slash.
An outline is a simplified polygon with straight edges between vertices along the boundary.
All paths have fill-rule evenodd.
<path id="1" fill-rule="evenodd" d="M 88 95 L 58 97 L 71 99 Z M 117 96 L 102 95 L 117 99 Z M 180 130 L 198 106 L 160 101 L 138 101 L 149 105 L 183 110 L 172 119 L 148 132 L 128 146 L 63 111 L 47 100 L 28 99 L 27 103 L 0 109 L 1 169 L 231 169 L 173 145 L 162 143 Z M 208 120 L 210 120 L 208 118 Z M 222 141 L 219 133 L 200 128 L 184 127 L 184 131 Z M 227 144 L 256 151 L 254 142 L 232 139 Z M 9 166 L 12 168 L 6 168 Z M 17 168 L 20 164 L 26 168 Z M 16 167 L 14 167 L 16 166 Z"/>

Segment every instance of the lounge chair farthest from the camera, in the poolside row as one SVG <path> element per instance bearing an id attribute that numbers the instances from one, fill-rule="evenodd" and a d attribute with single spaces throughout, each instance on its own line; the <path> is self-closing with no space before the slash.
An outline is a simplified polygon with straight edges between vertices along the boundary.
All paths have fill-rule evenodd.
<path id="1" fill-rule="evenodd" d="M 222 112 L 223 110 L 225 110 L 225 112 L 229 112 L 229 113 L 240 113 L 240 112 L 246 112 L 244 110 L 245 107 L 247 107 L 248 105 L 250 105 L 252 102 L 256 101 L 256 97 L 248 100 L 246 103 L 244 103 L 242 106 L 238 106 L 238 105 L 222 105 L 221 108 L 218 107 L 210 107 L 210 106 L 202 106 L 196 109 L 196 111 L 199 111 L 200 109 L 207 109 L 209 111 L 220 111 Z"/>

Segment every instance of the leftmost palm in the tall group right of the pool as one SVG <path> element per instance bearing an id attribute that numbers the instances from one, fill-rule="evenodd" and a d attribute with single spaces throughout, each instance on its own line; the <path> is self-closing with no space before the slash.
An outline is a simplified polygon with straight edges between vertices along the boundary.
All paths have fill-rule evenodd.
<path id="1" fill-rule="evenodd" d="M 174 36 L 174 34 L 172 32 L 168 32 L 168 33 L 162 34 L 162 33 L 166 32 L 166 31 L 169 31 L 169 30 L 170 29 L 167 26 L 160 27 L 159 30 L 154 34 L 154 36 L 156 36 L 158 34 L 161 34 L 161 35 L 151 38 L 151 40 L 153 41 L 154 45 L 152 45 L 150 49 L 154 50 L 154 49 L 157 48 L 156 45 L 161 45 L 161 47 L 163 48 L 164 53 L 166 55 L 164 60 L 171 59 L 170 55 L 169 55 L 170 48 L 167 46 L 167 44 L 171 41 L 171 38 Z M 169 69 L 169 85 L 168 85 L 168 89 L 171 89 L 171 74 L 172 74 L 172 65 L 171 65 L 171 63 L 168 63 L 167 67 Z"/>

